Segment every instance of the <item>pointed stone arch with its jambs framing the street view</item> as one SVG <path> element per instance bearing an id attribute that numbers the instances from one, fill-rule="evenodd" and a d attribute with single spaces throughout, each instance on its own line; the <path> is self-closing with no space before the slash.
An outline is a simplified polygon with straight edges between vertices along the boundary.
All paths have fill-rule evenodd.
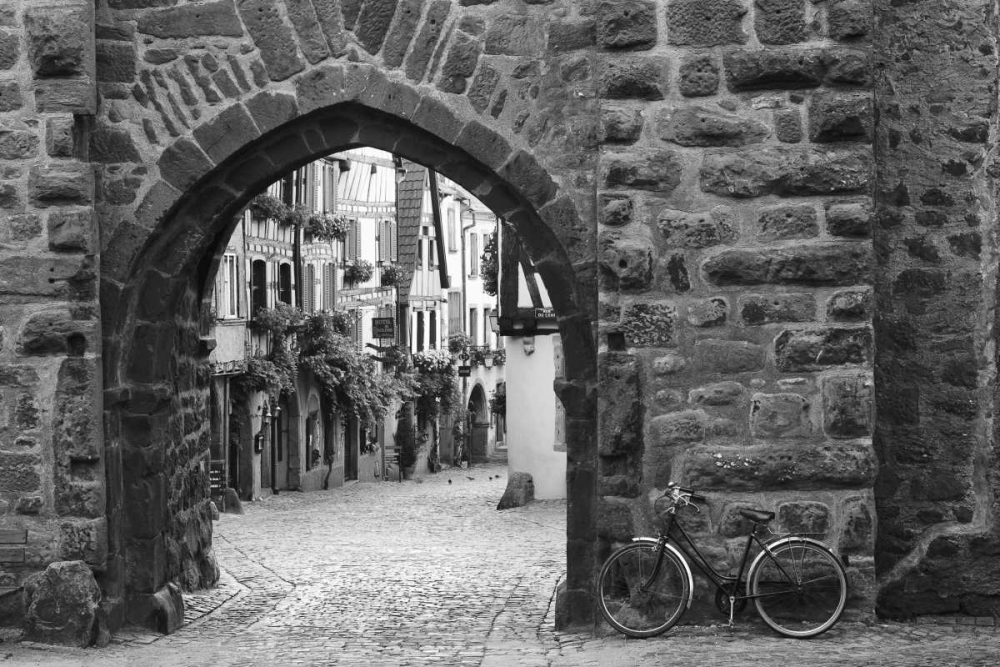
<path id="1" fill-rule="evenodd" d="M 596 292 L 574 269 L 589 246 L 563 240 L 580 238 L 592 223 L 580 220 L 573 199 L 530 153 L 478 121 L 462 122 L 440 101 L 390 84 L 368 66 L 314 74 L 297 96 L 260 93 L 169 146 L 136 222 L 119 225 L 109 245 L 116 250 L 102 276 L 107 450 L 114 469 L 108 511 L 112 557 L 124 563 L 127 576 L 103 582 L 106 592 L 127 600 L 133 621 L 148 622 L 155 593 L 166 582 L 195 587 L 216 576 L 205 474 L 206 345 L 199 322 L 206 282 L 235 214 L 250 197 L 318 156 L 369 145 L 433 168 L 473 192 L 510 221 L 552 286 L 567 350 L 566 380 L 557 389 L 576 462 L 568 473 L 572 557 L 561 608 L 578 618 L 562 622 L 585 620 L 594 553 L 595 448 L 585 434 L 596 430 Z M 343 85 L 352 76 L 367 77 L 366 83 L 345 101 L 344 89 L 331 82 Z M 317 90 L 326 91 L 323 100 Z M 129 255 L 129 248 L 138 250 Z M 127 508 L 133 507 L 148 511 L 130 520 Z M 574 603 L 574 596 L 584 603 Z"/>

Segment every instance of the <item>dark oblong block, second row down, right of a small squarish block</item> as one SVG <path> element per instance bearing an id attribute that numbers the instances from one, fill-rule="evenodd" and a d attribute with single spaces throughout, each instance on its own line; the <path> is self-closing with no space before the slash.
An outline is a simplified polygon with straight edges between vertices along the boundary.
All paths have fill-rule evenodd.
<path id="1" fill-rule="evenodd" d="M 815 88 L 827 73 L 827 62 L 819 49 L 734 50 L 725 54 L 723 66 L 733 92 Z"/>

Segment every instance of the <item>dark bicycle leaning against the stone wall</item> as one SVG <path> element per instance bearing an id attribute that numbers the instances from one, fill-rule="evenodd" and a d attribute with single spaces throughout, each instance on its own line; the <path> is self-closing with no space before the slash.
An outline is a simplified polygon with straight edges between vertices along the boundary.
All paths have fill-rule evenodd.
<path id="1" fill-rule="evenodd" d="M 715 604 L 729 615 L 730 626 L 734 613 L 743 611 L 749 600 L 768 626 L 787 637 L 815 637 L 840 619 L 847 603 L 847 574 L 825 544 L 801 534 L 761 539 L 762 529 L 770 533 L 767 524 L 774 512 L 741 509 L 751 530 L 739 570 L 722 574 L 675 521 L 679 509 L 701 511 L 692 501 L 706 498 L 671 483 L 657 503 L 663 499 L 669 501 L 663 512 L 665 528 L 656 538 L 632 538 L 608 557 L 598 576 L 598 605 L 616 630 L 630 637 L 652 637 L 673 627 L 694 597 L 688 560 L 715 584 Z M 755 543 L 759 552 L 748 569 Z"/>

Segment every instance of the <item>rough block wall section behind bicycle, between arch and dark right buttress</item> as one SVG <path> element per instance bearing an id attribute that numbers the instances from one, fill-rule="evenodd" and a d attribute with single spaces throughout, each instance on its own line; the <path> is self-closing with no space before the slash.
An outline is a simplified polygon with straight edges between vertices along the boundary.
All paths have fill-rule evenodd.
<path id="1" fill-rule="evenodd" d="M 601 2 L 596 516 L 607 550 L 670 481 L 735 569 L 736 511 L 875 568 L 872 7 Z M 702 588 L 711 599 L 712 590 Z"/>

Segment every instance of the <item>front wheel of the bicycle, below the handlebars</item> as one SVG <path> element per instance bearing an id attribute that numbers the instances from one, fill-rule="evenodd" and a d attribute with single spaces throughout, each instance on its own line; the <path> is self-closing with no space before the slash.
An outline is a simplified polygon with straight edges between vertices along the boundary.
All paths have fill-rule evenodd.
<path id="1" fill-rule="evenodd" d="M 691 587 L 680 558 L 655 542 L 634 542 L 604 562 L 597 579 L 598 604 L 613 628 L 630 637 L 669 630 L 688 605 Z M 655 574 L 655 576 L 654 576 Z"/>

